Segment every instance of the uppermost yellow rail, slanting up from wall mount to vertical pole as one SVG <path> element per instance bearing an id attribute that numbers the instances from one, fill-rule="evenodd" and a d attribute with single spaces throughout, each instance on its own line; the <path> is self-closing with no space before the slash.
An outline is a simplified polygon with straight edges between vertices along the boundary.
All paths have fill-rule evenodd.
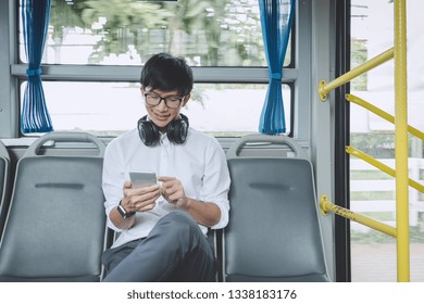
<path id="1" fill-rule="evenodd" d="M 385 63 L 386 61 L 390 60 L 394 58 L 395 54 L 395 49 L 390 48 L 387 51 L 381 53 L 379 55 L 376 55 L 375 58 L 366 61 L 365 63 L 358 65 L 357 67 L 352 68 L 351 71 L 345 73 L 344 75 L 337 77 L 336 79 L 329 81 L 328 84 L 325 83 L 324 80 L 320 81 L 319 86 L 319 94 L 320 99 L 322 101 L 327 100 L 327 94 L 334 90 L 335 88 L 338 88 L 346 83 L 350 81 L 354 77 Z"/>

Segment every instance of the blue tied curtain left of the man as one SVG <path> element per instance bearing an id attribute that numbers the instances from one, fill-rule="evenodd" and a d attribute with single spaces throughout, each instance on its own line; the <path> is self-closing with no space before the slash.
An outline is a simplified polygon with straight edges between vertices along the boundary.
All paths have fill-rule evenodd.
<path id="1" fill-rule="evenodd" d="M 25 52 L 28 60 L 28 83 L 21 116 L 23 132 L 52 131 L 41 84 L 41 58 L 50 20 L 51 0 L 23 0 L 22 21 Z"/>

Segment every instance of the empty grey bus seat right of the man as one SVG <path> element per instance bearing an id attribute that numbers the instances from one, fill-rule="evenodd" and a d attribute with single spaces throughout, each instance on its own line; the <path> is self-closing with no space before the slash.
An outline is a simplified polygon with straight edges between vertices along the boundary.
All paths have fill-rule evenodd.
<path id="1" fill-rule="evenodd" d="M 248 143 L 284 144 L 291 157 L 239 155 Z M 229 148 L 227 160 L 232 186 L 224 280 L 329 281 L 313 169 L 300 145 L 285 136 L 250 135 Z"/>

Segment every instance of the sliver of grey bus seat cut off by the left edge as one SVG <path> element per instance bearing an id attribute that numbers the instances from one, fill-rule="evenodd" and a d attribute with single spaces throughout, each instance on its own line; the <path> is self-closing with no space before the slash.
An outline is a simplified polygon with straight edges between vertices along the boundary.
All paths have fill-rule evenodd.
<path id="1" fill-rule="evenodd" d="M 0 141 L 0 239 L 3 232 L 5 215 L 9 207 L 10 156 L 2 141 Z"/>

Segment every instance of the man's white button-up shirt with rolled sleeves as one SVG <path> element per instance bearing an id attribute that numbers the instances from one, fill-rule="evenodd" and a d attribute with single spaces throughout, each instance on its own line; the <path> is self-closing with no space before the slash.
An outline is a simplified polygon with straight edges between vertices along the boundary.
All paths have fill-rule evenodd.
<path id="1" fill-rule="evenodd" d="M 113 139 L 104 154 L 102 187 L 108 226 L 121 232 L 113 248 L 147 237 L 162 216 L 176 211 L 173 204 L 160 197 L 153 210 L 136 213 L 136 223 L 132 228 L 116 228 L 109 214 L 123 198 L 123 185 L 129 179 L 129 172 L 154 172 L 157 176 L 179 179 L 186 197 L 212 202 L 220 207 L 221 219 L 212 229 L 227 225 L 230 181 L 225 153 L 217 140 L 189 128 L 183 144 L 174 144 L 162 136 L 160 144 L 146 147 L 138 136 L 138 129 L 134 129 Z M 208 227 L 199 226 L 203 233 L 208 232 Z"/>

